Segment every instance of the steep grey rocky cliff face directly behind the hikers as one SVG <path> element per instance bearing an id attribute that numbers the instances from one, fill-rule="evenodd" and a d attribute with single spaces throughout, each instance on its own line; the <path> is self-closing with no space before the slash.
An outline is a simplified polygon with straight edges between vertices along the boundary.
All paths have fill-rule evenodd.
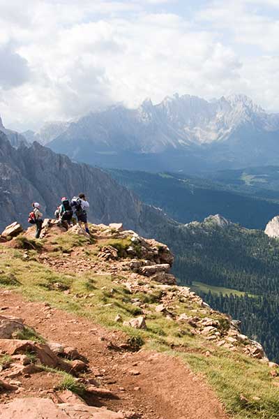
<path id="1" fill-rule="evenodd" d="M 126 228 L 146 232 L 145 212 L 160 219 L 160 212 L 140 203 L 132 192 L 119 186 L 98 168 L 73 163 L 66 156 L 34 142 L 31 147 L 11 147 L 0 133 L 0 226 L 17 219 L 26 224 L 31 203 L 38 201 L 45 216 L 52 216 L 62 196 L 86 193 L 89 220 L 99 223 L 124 221 Z"/>

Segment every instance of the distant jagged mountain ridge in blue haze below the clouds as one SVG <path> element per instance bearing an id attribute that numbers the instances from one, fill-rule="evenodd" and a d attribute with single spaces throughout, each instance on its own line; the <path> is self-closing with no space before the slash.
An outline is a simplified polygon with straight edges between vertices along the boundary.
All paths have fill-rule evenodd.
<path id="1" fill-rule="evenodd" d="M 140 170 L 205 170 L 278 163 L 279 114 L 245 95 L 175 94 L 137 109 L 91 112 L 49 142 L 77 161 Z"/>

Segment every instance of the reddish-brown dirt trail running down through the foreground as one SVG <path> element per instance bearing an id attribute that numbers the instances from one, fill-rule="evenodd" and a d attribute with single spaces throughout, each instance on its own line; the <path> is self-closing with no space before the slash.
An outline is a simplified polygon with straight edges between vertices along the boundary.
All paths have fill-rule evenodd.
<path id="1" fill-rule="evenodd" d="M 116 351 L 110 342 L 116 346 L 123 343 L 125 337 L 120 332 L 105 330 L 85 318 L 50 309 L 43 303 L 26 302 L 17 293 L 1 292 L 2 308 L 1 313 L 24 318 L 46 339 L 75 346 L 88 358 L 100 385 L 119 397 L 97 399 L 99 406 L 135 411 L 143 419 L 227 418 L 216 395 L 176 358 L 147 351 Z M 41 374 L 26 379 L 29 390 L 26 395 L 43 392 L 46 381 Z M 50 374 L 49 377 L 51 380 Z"/>

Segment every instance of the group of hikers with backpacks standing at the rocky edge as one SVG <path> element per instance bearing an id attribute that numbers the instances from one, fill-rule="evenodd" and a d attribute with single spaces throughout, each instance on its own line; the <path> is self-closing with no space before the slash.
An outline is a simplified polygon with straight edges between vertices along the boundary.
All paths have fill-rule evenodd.
<path id="1" fill-rule="evenodd" d="M 43 227 L 43 213 L 40 212 L 40 204 L 32 203 L 33 210 L 29 214 L 29 223 L 36 224 L 36 239 L 40 237 L 40 232 Z M 87 223 L 87 212 L 89 202 L 86 200 L 84 193 L 74 196 L 72 200 L 68 198 L 61 198 L 61 204 L 56 208 L 54 216 L 58 219 L 59 223 L 63 226 L 71 226 L 73 224 L 73 216 L 77 217 L 77 222 L 82 226 L 84 223 L 86 233 L 89 232 Z"/>

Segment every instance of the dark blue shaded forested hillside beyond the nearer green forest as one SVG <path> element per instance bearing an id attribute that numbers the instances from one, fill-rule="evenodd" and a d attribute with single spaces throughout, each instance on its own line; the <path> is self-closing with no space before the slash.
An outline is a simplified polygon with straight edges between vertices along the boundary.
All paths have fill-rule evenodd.
<path id="1" fill-rule="evenodd" d="M 233 171 L 232 171 L 233 172 Z M 279 213 L 279 202 L 237 191 L 236 185 L 178 174 L 110 170 L 110 174 L 150 205 L 160 207 L 180 223 L 202 221 L 209 214 L 223 214 L 247 228 L 264 228 Z"/>

